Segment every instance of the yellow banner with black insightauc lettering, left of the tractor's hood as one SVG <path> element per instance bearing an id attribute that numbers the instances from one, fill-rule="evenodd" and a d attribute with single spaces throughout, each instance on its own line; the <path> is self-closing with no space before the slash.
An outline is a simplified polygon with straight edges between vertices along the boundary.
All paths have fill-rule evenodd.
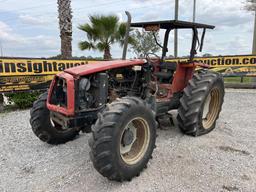
<path id="1" fill-rule="evenodd" d="M 47 89 L 53 75 L 100 61 L 0 58 L 0 93 Z"/>

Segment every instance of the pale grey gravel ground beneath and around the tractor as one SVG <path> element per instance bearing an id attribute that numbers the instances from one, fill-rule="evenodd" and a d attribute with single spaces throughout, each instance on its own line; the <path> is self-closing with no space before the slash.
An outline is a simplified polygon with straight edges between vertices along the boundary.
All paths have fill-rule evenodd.
<path id="1" fill-rule="evenodd" d="M 29 110 L 0 114 L 0 191 L 256 191 L 255 100 L 256 91 L 227 90 L 217 128 L 205 136 L 158 130 L 148 168 L 124 183 L 94 170 L 88 134 L 51 146 L 32 133 Z"/>

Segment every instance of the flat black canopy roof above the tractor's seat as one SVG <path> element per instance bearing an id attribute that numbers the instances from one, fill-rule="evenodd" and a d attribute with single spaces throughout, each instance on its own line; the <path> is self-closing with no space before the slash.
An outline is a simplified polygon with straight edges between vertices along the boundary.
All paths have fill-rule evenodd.
<path id="1" fill-rule="evenodd" d="M 131 23 L 131 27 L 144 28 L 149 25 L 159 25 L 160 29 L 191 29 L 191 28 L 214 29 L 215 28 L 215 26 L 213 26 L 213 25 L 206 25 L 206 24 L 202 24 L 202 23 L 193 23 L 193 22 L 179 21 L 179 20 Z"/>

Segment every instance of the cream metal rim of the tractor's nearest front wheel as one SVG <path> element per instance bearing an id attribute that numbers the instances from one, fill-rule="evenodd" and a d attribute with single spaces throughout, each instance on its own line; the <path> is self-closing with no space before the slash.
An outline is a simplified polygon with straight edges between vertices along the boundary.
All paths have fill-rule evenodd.
<path id="1" fill-rule="evenodd" d="M 129 137 L 127 133 L 133 137 L 125 139 Z M 123 130 L 120 139 L 120 154 L 123 161 L 129 165 L 138 163 L 148 149 L 149 138 L 150 131 L 148 123 L 142 118 L 132 119 Z"/>

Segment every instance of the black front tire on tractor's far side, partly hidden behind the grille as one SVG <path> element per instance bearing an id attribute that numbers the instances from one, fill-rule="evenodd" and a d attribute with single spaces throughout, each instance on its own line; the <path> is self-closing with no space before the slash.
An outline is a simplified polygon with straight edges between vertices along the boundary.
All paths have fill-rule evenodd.
<path id="1" fill-rule="evenodd" d="M 62 129 L 50 120 L 50 111 L 46 106 L 47 92 L 39 96 L 30 110 L 30 124 L 34 134 L 49 144 L 62 144 L 73 140 L 79 133 L 76 129 Z"/>

